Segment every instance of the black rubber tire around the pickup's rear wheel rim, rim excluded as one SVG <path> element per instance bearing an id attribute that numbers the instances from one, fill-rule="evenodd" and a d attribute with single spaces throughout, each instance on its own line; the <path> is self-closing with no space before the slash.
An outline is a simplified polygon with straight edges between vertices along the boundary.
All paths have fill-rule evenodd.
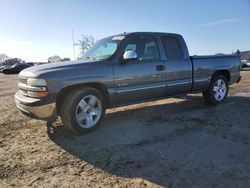
<path id="1" fill-rule="evenodd" d="M 214 87 L 215 87 L 216 82 L 220 79 L 224 81 L 226 91 L 225 91 L 225 95 L 221 99 L 218 100 L 215 96 Z M 214 75 L 208 90 L 206 92 L 203 92 L 204 100 L 208 104 L 211 104 L 211 105 L 217 105 L 217 104 L 222 103 L 227 98 L 227 95 L 228 95 L 228 81 L 225 78 L 225 76 L 221 74 Z"/>

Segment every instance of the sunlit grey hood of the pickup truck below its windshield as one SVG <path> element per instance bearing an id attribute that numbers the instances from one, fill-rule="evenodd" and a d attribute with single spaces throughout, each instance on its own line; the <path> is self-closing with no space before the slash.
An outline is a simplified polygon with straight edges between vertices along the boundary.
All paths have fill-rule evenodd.
<path id="1" fill-rule="evenodd" d="M 20 77 L 42 77 L 44 74 L 56 73 L 58 71 L 67 70 L 73 71 L 75 69 L 84 69 L 96 64 L 94 61 L 64 61 L 57 63 L 47 63 L 45 65 L 37 65 L 24 69 L 19 73 Z"/>

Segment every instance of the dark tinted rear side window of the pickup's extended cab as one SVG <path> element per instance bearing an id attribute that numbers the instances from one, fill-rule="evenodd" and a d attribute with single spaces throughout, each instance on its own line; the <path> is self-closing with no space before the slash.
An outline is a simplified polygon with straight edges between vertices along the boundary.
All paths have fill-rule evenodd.
<path id="1" fill-rule="evenodd" d="M 183 59 L 183 50 L 177 38 L 162 37 L 161 40 L 168 59 Z"/>

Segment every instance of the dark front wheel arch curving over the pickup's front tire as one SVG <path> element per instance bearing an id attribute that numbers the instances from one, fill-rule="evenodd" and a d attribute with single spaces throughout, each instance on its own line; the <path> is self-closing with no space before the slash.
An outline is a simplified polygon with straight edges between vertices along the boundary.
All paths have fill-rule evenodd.
<path id="1" fill-rule="evenodd" d="M 56 98 L 56 110 L 59 115 L 60 115 L 60 107 L 65 96 L 73 89 L 75 90 L 75 89 L 80 89 L 84 87 L 91 87 L 100 91 L 101 94 L 103 94 L 105 98 L 106 107 L 110 106 L 110 98 L 109 98 L 108 90 L 103 84 L 101 83 L 76 84 L 76 85 L 65 87 L 58 93 L 57 98 Z"/>

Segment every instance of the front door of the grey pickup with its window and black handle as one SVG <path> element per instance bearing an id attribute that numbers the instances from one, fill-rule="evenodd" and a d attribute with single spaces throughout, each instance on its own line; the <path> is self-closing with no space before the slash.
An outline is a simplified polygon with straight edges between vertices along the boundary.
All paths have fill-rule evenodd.
<path id="1" fill-rule="evenodd" d="M 166 72 L 156 39 L 151 35 L 129 36 L 122 54 L 127 50 L 135 50 L 138 59 L 114 65 L 115 105 L 164 97 Z"/>

